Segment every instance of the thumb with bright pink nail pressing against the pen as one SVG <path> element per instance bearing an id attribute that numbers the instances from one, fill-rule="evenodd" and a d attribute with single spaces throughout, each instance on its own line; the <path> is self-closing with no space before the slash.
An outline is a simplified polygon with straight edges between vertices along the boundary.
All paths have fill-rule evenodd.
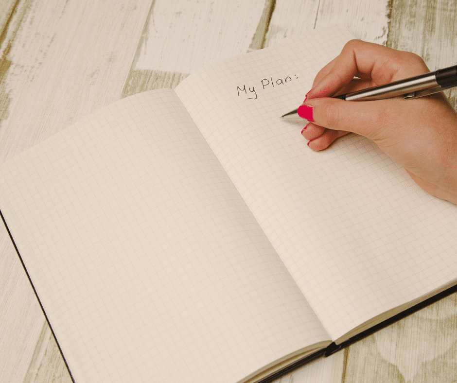
<path id="1" fill-rule="evenodd" d="M 389 129 L 388 111 L 399 100 L 344 101 L 336 98 L 306 100 L 298 109 L 301 118 L 336 131 L 346 131 L 369 139 L 386 138 Z"/>

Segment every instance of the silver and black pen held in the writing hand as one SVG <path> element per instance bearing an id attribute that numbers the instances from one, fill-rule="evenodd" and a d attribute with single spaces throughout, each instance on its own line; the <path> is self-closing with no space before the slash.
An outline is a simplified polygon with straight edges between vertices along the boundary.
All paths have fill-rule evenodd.
<path id="1" fill-rule="evenodd" d="M 358 90 L 356 92 L 333 96 L 346 101 L 372 101 L 403 95 L 404 100 L 410 100 L 429 94 L 442 92 L 444 89 L 457 87 L 457 65 L 420 76 L 406 78 L 390 84 Z M 281 119 L 301 118 L 297 109 L 282 115 Z"/>

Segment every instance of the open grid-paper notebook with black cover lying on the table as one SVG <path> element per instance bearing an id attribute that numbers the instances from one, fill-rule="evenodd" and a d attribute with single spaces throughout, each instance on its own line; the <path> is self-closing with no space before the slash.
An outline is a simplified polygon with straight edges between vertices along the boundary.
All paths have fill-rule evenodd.
<path id="1" fill-rule="evenodd" d="M 351 38 L 330 26 L 222 61 L 1 167 L 76 382 L 271 379 L 452 291 L 456 206 L 368 139 L 316 153 L 279 119 Z"/>

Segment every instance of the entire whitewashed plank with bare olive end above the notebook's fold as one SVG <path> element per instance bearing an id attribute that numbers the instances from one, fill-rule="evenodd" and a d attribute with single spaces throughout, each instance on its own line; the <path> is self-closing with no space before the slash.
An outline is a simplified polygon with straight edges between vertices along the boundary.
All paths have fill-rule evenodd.
<path id="1" fill-rule="evenodd" d="M 186 0 L 156 0 L 122 97 L 175 88 L 193 70 L 262 48 L 273 5 L 273 0 L 205 0 L 193 4 Z M 162 21 L 156 25 L 160 16 Z M 193 52 L 194 58 L 185 54 L 188 51 Z"/>

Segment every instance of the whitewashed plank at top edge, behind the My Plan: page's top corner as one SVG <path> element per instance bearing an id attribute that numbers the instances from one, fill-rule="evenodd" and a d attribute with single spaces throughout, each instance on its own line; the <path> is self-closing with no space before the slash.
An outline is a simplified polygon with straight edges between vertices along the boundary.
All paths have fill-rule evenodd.
<path id="1" fill-rule="evenodd" d="M 356 38 L 385 44 L 388 31 L 387 0 L 278 1 L 265 46 L 325 24 L 338 24 L 348 28 Z"/>

